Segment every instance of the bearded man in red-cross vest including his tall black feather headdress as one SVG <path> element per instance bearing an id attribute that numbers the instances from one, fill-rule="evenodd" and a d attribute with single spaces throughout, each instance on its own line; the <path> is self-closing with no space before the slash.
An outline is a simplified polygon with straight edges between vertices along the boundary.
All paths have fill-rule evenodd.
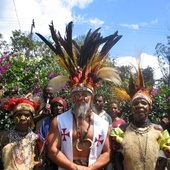
<path id="1" fill-rule="evenodd" d="M 59 75 L 49 84 L 57 91 L 68 83 L 72 90 L 73 107 L 51 123 L 47 139 L 48 157 L 59 166 L 59 170 L 101 170 L 110 161 L 110 127 L 92 111 L 91 105 L 100 80 L 120 85 L 117 70 L 106 67 L 106 59 L 109 50 L 122 36 L 116 31 L 103 37 L 98 32 L 100 28 L 93 32 L 89 30 L 79 46 L 72 39 L 72 26 L 73 22 L 67 25 L 63 38 L 52 23 L 50 30 L 54 43 L 37 33 L 55 52 L 69 75 Z"/>

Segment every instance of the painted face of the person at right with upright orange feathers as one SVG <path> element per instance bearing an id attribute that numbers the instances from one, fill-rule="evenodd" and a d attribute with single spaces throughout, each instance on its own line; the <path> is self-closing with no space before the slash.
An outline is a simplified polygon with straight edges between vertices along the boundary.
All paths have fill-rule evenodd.
<path id="1" fill-rule="evenodd" d="M 137 98 L 132 103 L 132 113 L 136 121 L 147 120 L 150 113 L 150 105 L 143 98 Z"/>

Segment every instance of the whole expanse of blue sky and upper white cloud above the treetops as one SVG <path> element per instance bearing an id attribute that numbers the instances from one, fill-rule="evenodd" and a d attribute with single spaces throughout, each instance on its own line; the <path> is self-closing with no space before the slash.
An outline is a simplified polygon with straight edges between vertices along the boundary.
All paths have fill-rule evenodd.
<path id="1" fill-rule="evenodd" d="M 50 35 L 51 20 L 61 33 L 73 21 L 73 36 L 101 27 L 103 36 L 118 30 L 122 39 L 112 48 L 113 57 L 154 55 L 157 43 L 167 44 L 170 34 L 169 0 L 0 0 L 0 33 L 12 30 Z M 149 61 L 149 60 L 148 60 Z M 152 61 L 151 61 L 152 62 Z M 149 62 L 148 62 L 149 63 Z"/>

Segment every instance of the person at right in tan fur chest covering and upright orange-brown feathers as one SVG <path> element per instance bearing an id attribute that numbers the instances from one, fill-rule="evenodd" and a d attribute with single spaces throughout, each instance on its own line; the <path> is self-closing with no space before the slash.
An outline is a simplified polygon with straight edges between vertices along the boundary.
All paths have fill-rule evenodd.
<path id="1" fill-rule="evenodd" d="M 152 98 L 144 84 L 141 69 L 137 79 L 131 76 L 129 83 L 132 115 L 129 124 L 111 131 L 116 170 L 164 170 L 160 157 L 170 151 L 170 137 L 160 125 L 153 124 L 148 116 L 152 110 Z M 115 152 L 120 147 L 121 152 Z M 164 151 L 164 152 L 163 152 Z M 166 153 L 166 154 L 164 154 Z"/>

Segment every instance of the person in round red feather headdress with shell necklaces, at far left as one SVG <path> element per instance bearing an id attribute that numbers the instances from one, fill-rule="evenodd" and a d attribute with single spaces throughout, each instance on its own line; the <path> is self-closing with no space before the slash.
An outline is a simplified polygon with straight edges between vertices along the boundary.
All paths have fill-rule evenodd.
<path id="1" fill-rule="evenodd" d="M 0 134 L 3 169 L 33 170 L 39 164 L 38 135 L 32 131 L 33 115 L 39 103 L 27 98 L 11 98 L 3 106 L 14 118 L 14 128 Z"/>

